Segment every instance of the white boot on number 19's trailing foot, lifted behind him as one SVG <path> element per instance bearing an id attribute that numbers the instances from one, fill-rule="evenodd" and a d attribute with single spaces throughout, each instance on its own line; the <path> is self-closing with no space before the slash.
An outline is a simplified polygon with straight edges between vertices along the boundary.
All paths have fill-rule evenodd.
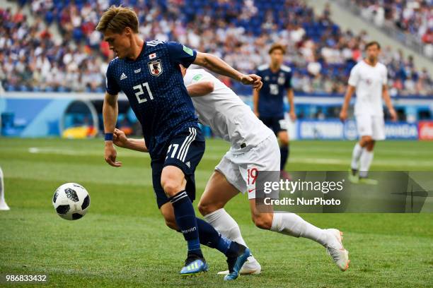
<path id="1" fill-rule="evenodd" d="M 337 229 L 325 229 L 328 232 L 328 244 L 325 245 L 326 252 L 333 258 L 335 265 L 345 271 L 349 268 L 349 251 L 342 246 L 342 232 Z"/>

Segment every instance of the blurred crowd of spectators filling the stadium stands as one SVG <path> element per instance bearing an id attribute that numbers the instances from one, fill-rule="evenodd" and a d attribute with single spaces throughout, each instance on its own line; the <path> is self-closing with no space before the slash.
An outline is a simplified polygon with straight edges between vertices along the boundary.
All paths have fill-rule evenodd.
<path id="1" fill-rule="evenodd" d="M 103 92 L 112 52 L 94 28 L 98 18 L 118 1 L 19 1 L 29 5 L 30 21 L 20 9 L 0 8 L 0 81 L 6 90 Z M 122 1 L 139 16 L 146 40 L 182 42 L 217 54 L 240 71 L 253 72 L 268 61 L 272 42 L 287 45 L 286 63 L 293 70 L 297 92 L 345 90 L 350 69 L 362 59 L 368 35 L 342 31 L 299 0 Z M 62 35 L 47 27 L 57 26 Z M 383 47 L 392 95 L 433 95 L 433 81 L 412 56 Z M 227 85 L 250 94 L 249 88 L 223 78 Z"/>

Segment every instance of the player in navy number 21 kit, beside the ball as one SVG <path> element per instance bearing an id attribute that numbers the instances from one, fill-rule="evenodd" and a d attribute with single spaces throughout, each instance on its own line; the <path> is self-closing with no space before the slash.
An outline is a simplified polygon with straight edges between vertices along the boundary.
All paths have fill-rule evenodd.
<path id="1" fill-rule="evenodd" d="M 195 217 L 195 167 L 204 153 L 204 138 L 183 83 L 179 64 L 204 66 L 260 89 L 260 77 L 244 75 L 216 56 L 195 52 L 176 42 L 144 42 L 138 35 L 138 18 L 130 8 L 111 6 L 103 13 L 96 30 L 117 57 L 107 69 L 103 105 L 105 161 L 120 167 L 113 145 L 117 120 L 117 94 L 123 91 L 142 124 L 151 168 L 156 202 L 166 224 L 183 233 L 187 259 L 181 275 L 207 270 L 200 244 L 217 248 L 227 257 L 234 280 L 250 256 L 248 248 L 221 236 L 210 224 Z M 174 217 L 173 217 L 174 214 Z M 172 219 L 175 219 L 175 223 Z"/>

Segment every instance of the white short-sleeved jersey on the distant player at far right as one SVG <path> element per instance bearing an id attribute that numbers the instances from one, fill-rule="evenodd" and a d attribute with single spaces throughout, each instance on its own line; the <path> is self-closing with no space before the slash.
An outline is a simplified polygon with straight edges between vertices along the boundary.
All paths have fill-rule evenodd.
<path id="1" fill-rule="evenodd" d="M 349 85 L 357 92 L 355 115 L 383 116 L 382 88 L 387 82 L 388 71 L 379 62 L 373 67 L 362 60 L 352 68 Z"/>

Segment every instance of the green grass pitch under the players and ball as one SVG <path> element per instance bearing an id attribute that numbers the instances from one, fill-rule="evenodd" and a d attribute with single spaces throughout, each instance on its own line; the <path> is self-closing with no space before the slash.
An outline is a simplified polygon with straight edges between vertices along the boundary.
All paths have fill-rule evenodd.
<path id="1" fill-rule="evenodd" d="M 294 141 L 287 168 L 346 170 L 353 145 Z M 207 141 L 196 172 L 198 197 L 228 147 Z M 156 208 L 149 155 L 117 152 L 123 167 L 116 169 L 105 164 L 100 139 L 0 138 L 11 207 L 0 211 L 0 273 L 47 273 L 47 285 L 57 287 L 432 287 L 432 214 L 303 214 L 319 227 L 345 232 L 351 265 L 340 272 L 318 244 L 254 227 L 242 195 L 226 210 L 238 221 L 262 274 L 225 283 L 217 275 L 226 269 L 224 257 L 204 248 L 209 272 L 184 279 L 178 272 L 185 242 Z M 372 169 L 432 171 L 433 143 L 378 143 Z M 91 194 L 91 208 L 81 220 L 62 220 L 52 208 L 52 194 L 65 182 L 78 182 Z"/>

